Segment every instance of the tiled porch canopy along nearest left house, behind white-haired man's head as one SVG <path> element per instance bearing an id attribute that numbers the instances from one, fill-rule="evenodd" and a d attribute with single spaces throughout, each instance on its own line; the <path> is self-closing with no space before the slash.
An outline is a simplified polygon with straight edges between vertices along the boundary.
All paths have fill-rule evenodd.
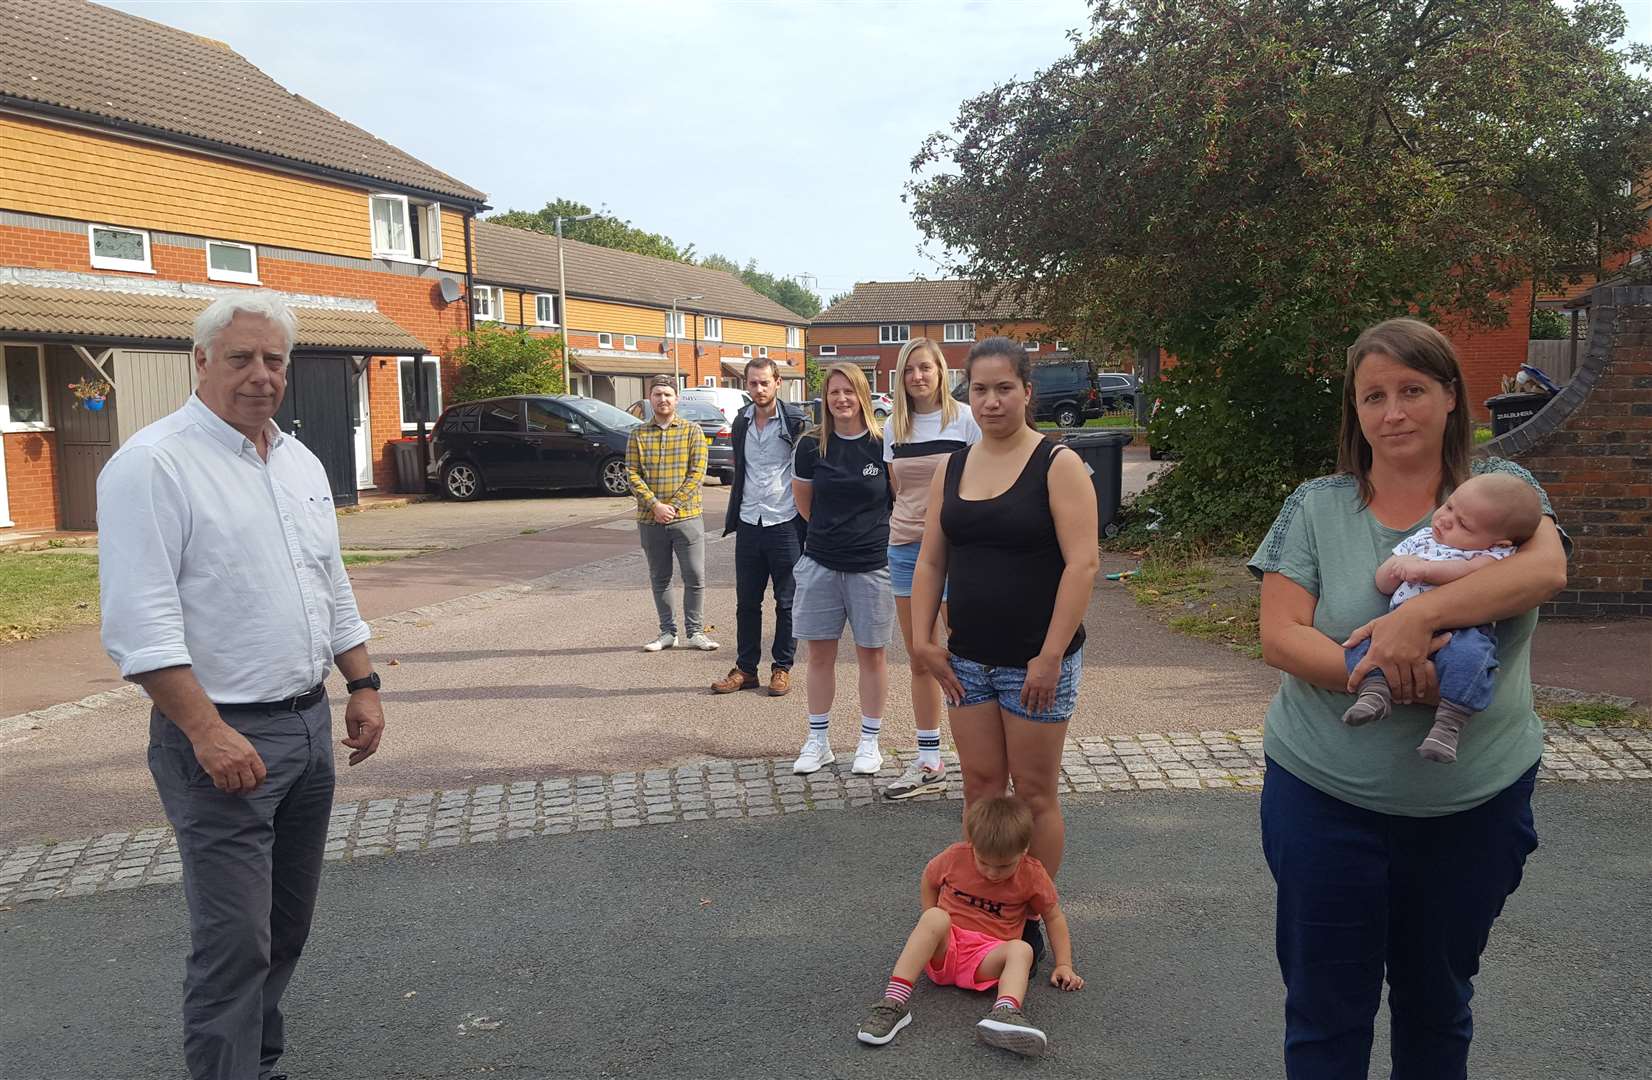
<path id="1" fill-rule="evenodd" d="M 187 350 L 195 335 L 195 317 L 211 301 L 211 296 L 0 282 L 0 339 Z M 311 307 L 299 297 L 287 297 L 287 304 L 299 320 L 294 348 L 370 357 L 430 352 L 382 312 L 355 306 Z"/>

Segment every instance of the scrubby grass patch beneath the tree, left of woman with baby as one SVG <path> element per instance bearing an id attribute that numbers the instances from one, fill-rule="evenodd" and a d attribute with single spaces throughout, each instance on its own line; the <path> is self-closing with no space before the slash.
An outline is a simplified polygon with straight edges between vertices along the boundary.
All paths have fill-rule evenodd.
<path id="1" fill-rule="evenodd" d="M 1146 553 L 1125 578 L 1130 594 L 1170 629 L 1262 659 L 1262 593 L 1242 558 Z"/>

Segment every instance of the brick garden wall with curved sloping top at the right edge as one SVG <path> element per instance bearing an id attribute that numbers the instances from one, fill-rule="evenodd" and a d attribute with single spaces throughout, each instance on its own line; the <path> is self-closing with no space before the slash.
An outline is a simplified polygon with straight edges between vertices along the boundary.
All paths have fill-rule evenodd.
<path id="1" fill-rule="evenodd" d="M 1602 286 L 1576 377 L 1488 443 L 1531 469 L 1574 542 L 1558 616 L 1652 616 L 1652 287 Z"/>

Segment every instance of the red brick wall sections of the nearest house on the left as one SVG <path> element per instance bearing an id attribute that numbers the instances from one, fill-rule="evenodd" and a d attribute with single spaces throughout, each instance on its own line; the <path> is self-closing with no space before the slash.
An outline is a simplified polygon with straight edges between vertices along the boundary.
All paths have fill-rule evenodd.
<path id="1" fill-rule="evenodd" d="M 0 266 L 131 276 L 139 281 L 221 284 L 208 282 L 206 253 L 200 248 L 177 248 L 157 243 L 152 244 L 150 259 L 155 268 L 154 274 L 94 271 L 84 233 L 0 226 Z M 446 393 L 453 386 L 456 370 L 448 362 L 448 355 L 456 335 L 468 325 L 466 309 L 464 301 L 448 306 L 441 304 L 436 291 L 438 274 L 410 277 L 372 269 L 316 266 L 259 258 L 258 276 L 264 287 L 281 292 L 373 301 L 380 312 L 428 345 L 433 355 L 443 358 L 443 391 Z M 388 490 L 395 482 L 395 462 L 390 456 L 390 443 L 401 438 L 401 411 L 396 360 L 382 360 L 383 363 L 380 363 L 380 358 L 368 362 L 368 414 L 373 444 L 373 482 L 380 489 Z M 10 451 L 10 444 L 7 449 Z M 12 502 L 15 507 L 15 495 Z M 53 507 L 56 507 L 55 497 Z"/>

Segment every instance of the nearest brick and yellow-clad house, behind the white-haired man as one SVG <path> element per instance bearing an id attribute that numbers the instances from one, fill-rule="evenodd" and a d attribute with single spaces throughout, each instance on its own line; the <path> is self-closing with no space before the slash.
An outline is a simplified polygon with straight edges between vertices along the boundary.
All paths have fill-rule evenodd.
<path id="1" fill-rule="evenodd" d="M 193 385 L 211 297 L 299 315 L 278 423 L 340 504 L 468 325 L 482 192 L 291 94 L 230 50 L 83 0 L 0 0 L 0 527 L 91 528 L 121 441 Z M 71 381 L 101 378 L 99 411 Z M 431 413 L 433 416 L 434 413 Z"/>

